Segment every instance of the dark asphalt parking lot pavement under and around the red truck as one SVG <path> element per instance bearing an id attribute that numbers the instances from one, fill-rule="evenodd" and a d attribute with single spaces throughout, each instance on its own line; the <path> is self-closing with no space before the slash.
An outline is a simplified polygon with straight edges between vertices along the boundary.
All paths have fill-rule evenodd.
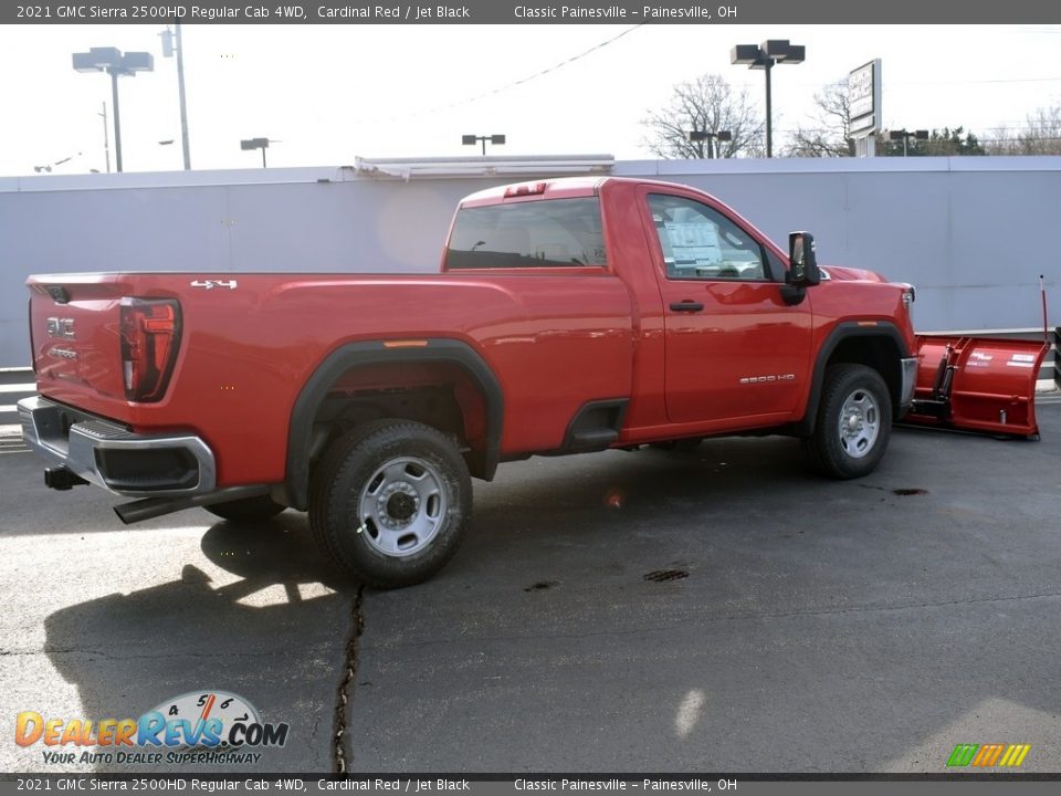
<path id="1" fill-rule="evenodd" d="M 14 718 L 225 691 L 287 743 L 198 771 L 937 773 L 959 743 L 1061 771 L 1057 398 L 1039 421 L 897 429 L 843 483 L 781 438 L 506 464 L 453 562 L 388 593 L 336 577 L 301 514 L 124 527 L 6 439 L 0 768 L 181 768 L 46 764 Z"/>

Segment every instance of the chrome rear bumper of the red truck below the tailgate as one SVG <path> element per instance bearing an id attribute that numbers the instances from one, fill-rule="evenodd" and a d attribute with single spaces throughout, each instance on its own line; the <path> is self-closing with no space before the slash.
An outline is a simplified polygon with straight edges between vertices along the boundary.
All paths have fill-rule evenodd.
<path id="1" fill-rule="evenodd" d="M 137 434 L 40 396 L 18 406 L 27 446 L 51 464 L 115 494 L 178 498 L 217 490 L 213 451 L 195 434 Z"/>

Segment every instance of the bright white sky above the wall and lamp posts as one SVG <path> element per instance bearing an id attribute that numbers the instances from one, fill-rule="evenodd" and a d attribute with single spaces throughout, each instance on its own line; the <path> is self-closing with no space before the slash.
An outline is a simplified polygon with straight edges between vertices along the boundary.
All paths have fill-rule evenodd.
<path id="1" fill-rule="evenodd" d="M 148 51 L 155 71 L 120 78 L 126 171 L 182 167 L 176 59 L 162 24 L 0 27 L 0 176 L 106 169 L 107 75 L 74 72 L 93 46 Z M 964 125 L 981 137 L 1061 105 L 1061 25 L 229 25 L 186 24 L 195 169 L 253 168 L 240 140 L 271 139 L 270 167 L 360 157 L 459 157 L 465 134 L 504 134 L 495 155 L 653 157 L 640 122 L 706 73 L 747 86 L 734 44 L 789 39 L 807 60 L 774 70 L 775 151 L 815 126 L 813 95 L 881 59 L 889 128 Z M 111 167 L 114 169 L 114 142 Z M 172 140 L 161 145 L 159 142 Z M 67 159 L 69 158 L 69 159 Z M 65 163 L 57 164 L 61 160 Z"/>

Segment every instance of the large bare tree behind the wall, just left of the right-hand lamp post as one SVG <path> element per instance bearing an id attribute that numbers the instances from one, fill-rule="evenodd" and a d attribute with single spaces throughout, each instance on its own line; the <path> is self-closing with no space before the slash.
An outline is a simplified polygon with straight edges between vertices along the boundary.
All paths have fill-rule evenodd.
<path id="1" fill-rule="evenodd" d="M 649 133 L 642 144 L 662 158 L 705 158 L 707 140 L 691 142 L 687 134 L 728 130 L 731 140 L 711 140 L 715 157 L 755 157 L 763 150 L 763 119 L 748 100 L 717 74 L 705 74 L 674 86 L 670 104 L 641 121 Z"/>

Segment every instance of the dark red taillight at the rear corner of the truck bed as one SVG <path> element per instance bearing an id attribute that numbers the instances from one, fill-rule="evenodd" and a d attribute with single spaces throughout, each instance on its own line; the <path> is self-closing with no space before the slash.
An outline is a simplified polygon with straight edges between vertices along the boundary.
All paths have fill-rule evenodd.
<path id="1" fill-rule="evenodd" d="M 123 298 L 120 322 L 126 399 L 161 400 L 180 345 L 180 305 L 171 298 Z"/>

